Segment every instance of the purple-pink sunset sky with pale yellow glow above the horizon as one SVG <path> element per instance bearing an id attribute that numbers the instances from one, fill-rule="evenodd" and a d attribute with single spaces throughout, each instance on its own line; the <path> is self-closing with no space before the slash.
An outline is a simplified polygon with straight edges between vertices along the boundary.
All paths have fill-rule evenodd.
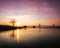
<path id="1" fill-rule="evenodd" d="M 0 0 L 0 24 L 60 25 L 60 0 Z"/>

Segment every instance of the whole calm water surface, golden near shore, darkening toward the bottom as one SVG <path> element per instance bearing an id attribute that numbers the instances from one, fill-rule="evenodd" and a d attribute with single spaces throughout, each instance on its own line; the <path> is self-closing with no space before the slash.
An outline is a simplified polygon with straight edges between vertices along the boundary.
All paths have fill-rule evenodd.
<path id="1" fill-rule="evenodd" d="M 34 47 L 58 43 L 60 28 L 26 28 L 0 32 L 0 46 Z"/>

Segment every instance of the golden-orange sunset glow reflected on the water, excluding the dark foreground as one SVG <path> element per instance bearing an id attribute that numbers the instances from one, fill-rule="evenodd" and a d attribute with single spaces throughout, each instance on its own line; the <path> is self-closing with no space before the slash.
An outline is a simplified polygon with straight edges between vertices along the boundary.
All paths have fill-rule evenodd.
<path id="1" fill-rule="evenodd" d="M 16 29 L 11 31 L 4 31 L 0 33 L 0 42 L 6 43 L 28 43 L 31 40 L 36 40 L 38 37 L 42 38 L 52 38 L 59 37 L 60 29 L 53 28 L 26 28 L 26 29 Z M 1 43 L 0 43 L 1 44 Z"/>

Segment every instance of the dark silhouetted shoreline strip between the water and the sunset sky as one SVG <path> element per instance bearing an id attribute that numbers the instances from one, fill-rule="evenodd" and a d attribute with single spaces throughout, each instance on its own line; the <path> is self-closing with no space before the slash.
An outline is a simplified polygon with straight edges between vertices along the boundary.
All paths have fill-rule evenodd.
<path id="1" fill-rule="evenodd" d="M 8 26 L 8 25 L 0 25 L 0 31 L 6 31 L 6 30 L 15 30 L 15 29 L 22 29 L 22 28 L 60 28 L 60 26 L 55 26 L 55 27 L 48 27 L 48 26 L 46 26 L 46 27 L 28 27 L 28 26 L 26 26 L 26 27 L 13 27 L 13 26 Z"/>

